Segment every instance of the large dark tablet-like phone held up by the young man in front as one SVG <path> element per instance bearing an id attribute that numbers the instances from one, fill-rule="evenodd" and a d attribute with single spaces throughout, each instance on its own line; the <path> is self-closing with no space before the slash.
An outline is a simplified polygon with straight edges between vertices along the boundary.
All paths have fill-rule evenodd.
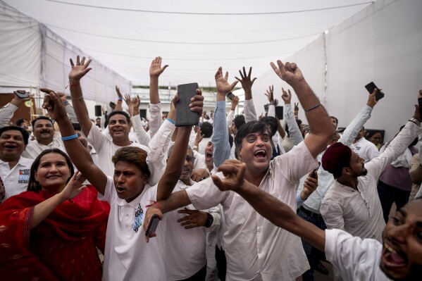
<path id="1" fill-rule="evenodd" d="M 178 104 L 176 104 L 176 127 L 198 125 L 199 115 L 189 108 L 192 97 L 197 94 L 198 83 L 178 85 Z"/>

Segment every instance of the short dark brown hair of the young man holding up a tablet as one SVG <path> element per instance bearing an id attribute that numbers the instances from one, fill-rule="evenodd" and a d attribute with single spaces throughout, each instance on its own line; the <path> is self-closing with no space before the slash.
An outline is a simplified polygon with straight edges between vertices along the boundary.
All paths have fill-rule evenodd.
<path id="1" fill-rule="evenodd" d="M 114 111 L 113 111 L 114 112 Z M 118 161 L 123 161 L 135 165 L 138 170 L 148 177 L 151 175 L 147 165 L 147 151 L 136 146 L 125 146 L 116 151 L 113 158 L 111 158 L 114 166 Z"/>

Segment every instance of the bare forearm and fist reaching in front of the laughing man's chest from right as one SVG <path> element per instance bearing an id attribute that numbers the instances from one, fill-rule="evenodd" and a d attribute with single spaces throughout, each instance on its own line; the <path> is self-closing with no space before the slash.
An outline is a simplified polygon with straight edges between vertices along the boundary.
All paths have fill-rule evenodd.
<path id="1" fill-rule="evenodd" d="M 220 179 L 211 175 L 214 184 L 221 191 L 232 190 L 242 196 L 249 204 L 264 218 L 271 223 L 282 227 L 294 235 L 302 237 L 317 249 L 324 251 L 325 232 L 312 223 L 303 220 L 283 202 L 271 194 L 263 192 L 262 189 L 244 180 L 246 164 L 240 161 L 225 161 L 218 167 L 218 171 L 224 173 L 225 178 Z"/>

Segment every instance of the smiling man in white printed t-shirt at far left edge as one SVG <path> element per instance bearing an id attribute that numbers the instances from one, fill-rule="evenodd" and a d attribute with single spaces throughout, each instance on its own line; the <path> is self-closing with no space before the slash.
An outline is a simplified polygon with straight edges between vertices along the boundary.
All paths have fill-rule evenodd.
<path id="1" fill-rule="evenodd" d="M 0 178 L 4 184 L 4 198 L 25 192 L 30 179 L 33 159 L 22 156 L 29 134 L 22 127 L 0 128 Z"/>

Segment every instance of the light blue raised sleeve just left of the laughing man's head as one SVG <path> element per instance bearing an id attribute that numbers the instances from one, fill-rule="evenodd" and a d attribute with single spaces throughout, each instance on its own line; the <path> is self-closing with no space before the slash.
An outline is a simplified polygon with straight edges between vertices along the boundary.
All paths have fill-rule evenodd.
<path id="1" fill-rule="evenodd" d="M 214 144 L 213 159 L 216 167 L 230 158 L 230 144 L 228 142 L 228 127 L 225 120 L 225 101 L 216 102 L 214 112 L 214 131 L 211 142 Z"/>

